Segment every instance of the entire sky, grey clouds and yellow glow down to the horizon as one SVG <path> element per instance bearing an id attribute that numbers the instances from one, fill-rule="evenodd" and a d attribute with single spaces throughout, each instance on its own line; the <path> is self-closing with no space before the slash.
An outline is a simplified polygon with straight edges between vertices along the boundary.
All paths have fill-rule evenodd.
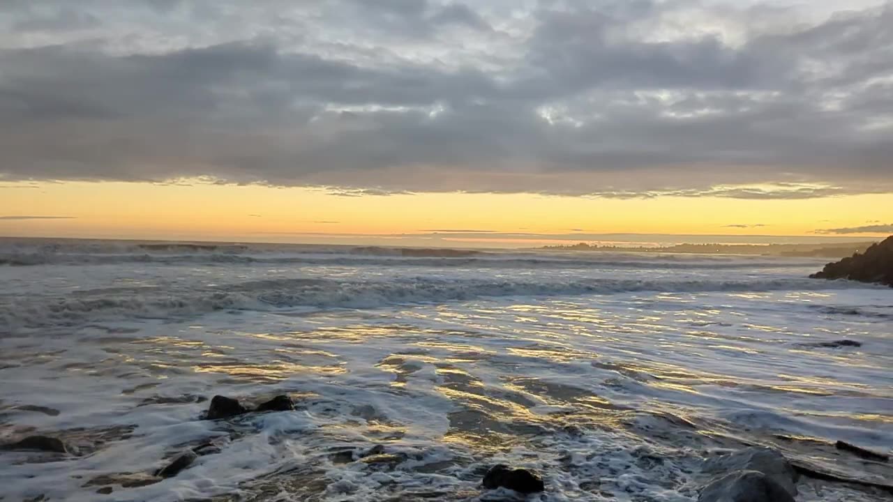
<path id="1" fill-rule="evenodd" d="M 893 233 L 893 2 L 4 0 L 0 235 Z"/>

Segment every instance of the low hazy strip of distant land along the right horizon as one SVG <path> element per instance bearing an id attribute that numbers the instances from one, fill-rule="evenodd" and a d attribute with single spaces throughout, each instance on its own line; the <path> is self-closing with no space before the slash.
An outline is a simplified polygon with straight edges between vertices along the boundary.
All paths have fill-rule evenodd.
<path id="1" fill-rule="evenodd" d="M 592 251 L 613 253 L 689 253 L 697 255 L 771 255 L 771 256 L 816 256 L 822 258 L 843 258 L 854 253 L 863 253 L 874 241 L 816 243 L 816 244 L 676 244 L 674 246 L 606 246 L 580 242 L 572 245 L 545 246 L 539 249 L 552 251 Z"/>

